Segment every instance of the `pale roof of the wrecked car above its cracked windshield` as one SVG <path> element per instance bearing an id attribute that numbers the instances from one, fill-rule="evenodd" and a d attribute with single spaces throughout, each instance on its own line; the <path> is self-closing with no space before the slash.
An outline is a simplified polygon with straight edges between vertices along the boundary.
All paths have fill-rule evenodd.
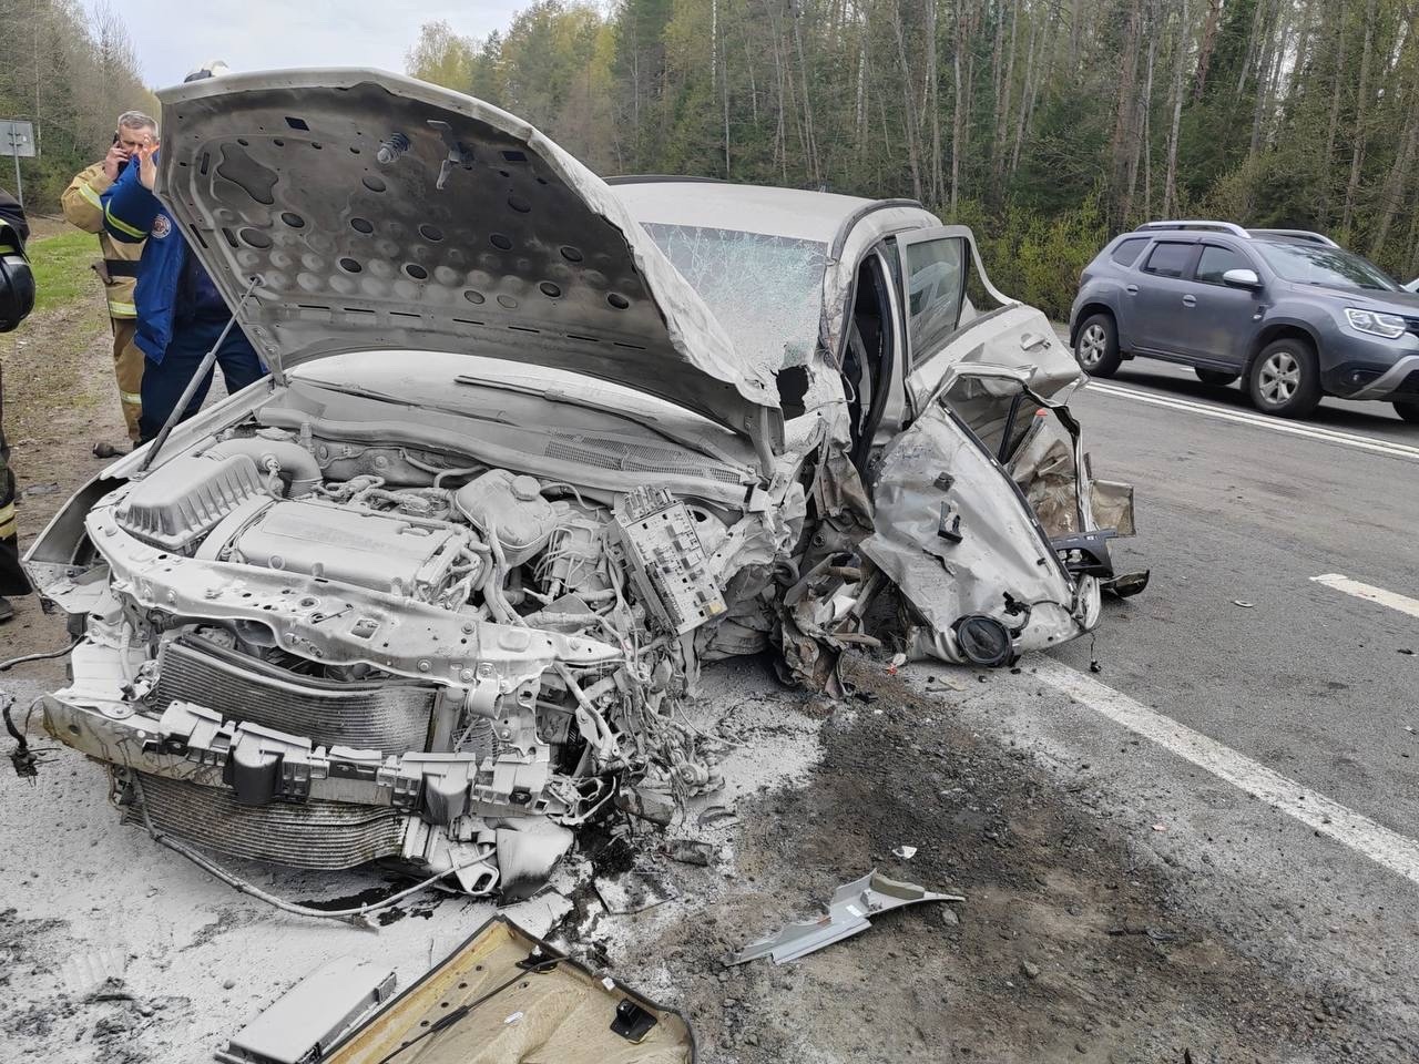
<path id="1" fill-rule="evenodd" d="M 609 177 L 641 224 L 707 226 L 832 244 L 878 200 L 694 177 Z M 883 200 L 881 203 L 891 203 Z"/>

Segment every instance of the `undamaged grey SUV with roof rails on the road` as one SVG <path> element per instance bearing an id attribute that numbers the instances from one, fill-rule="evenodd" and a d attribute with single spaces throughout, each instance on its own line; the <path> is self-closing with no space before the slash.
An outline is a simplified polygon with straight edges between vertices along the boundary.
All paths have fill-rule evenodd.
<path id="1" fill-rule="evenodd" d="M 1419 295 L 1328 237 L 1226 221 L 1151 221 L 1080 277 L 1070 343 L 1091 376 L 1124 359 L 1246 382 L 1269 414 L 1321 396 L 1379 399 L 1419 424 Z"/>

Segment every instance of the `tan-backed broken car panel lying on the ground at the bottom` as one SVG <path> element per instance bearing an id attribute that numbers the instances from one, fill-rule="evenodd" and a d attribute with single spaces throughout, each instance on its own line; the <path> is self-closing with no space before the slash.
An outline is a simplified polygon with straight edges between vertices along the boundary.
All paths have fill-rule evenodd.
<path id="1" fill-rule="evenodd" d="M 324 1060 L 692 1064 L 695 1041 L 680 1013 L 494 916 Z"/>

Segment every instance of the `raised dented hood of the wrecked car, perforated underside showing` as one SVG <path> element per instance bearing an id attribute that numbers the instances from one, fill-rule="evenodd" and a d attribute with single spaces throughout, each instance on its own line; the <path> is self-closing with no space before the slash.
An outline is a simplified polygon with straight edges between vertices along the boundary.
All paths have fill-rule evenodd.
<path id="1" fill-rule="evenodd" d="M 658 396 L 782 447 L 771 380 L 612 190 L 480 99 L 366 70 L 159 94 L 159 194 L 277 376 L 450 350 Z M 450 382 L 451 384 L 453 382 Z"/>

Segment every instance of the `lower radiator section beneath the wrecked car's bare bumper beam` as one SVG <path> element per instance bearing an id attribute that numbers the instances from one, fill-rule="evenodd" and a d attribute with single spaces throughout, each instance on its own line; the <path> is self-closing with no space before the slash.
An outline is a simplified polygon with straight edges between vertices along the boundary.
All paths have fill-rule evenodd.
<path id="1" fill-rule="evenodd" d="M 316 800 L 238 806 L 226 787 L 145 773 L 139 782 L 153 827 L 231 857 L 336 870 L 403 848 L 403 816 L 393 809 Z"/>

